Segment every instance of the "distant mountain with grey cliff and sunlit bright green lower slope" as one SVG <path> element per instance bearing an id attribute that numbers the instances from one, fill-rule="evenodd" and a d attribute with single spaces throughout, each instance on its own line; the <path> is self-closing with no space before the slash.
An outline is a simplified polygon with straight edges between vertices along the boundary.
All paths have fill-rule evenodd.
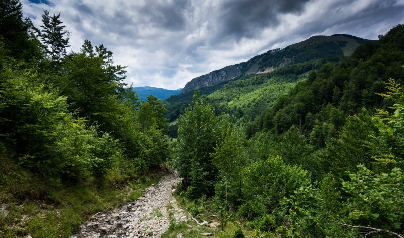
<path id="1" fill-rule="evenodd" d="M 245 123 L 272 106 L 274 100 L 287 93 L 297 81 L 306 79 L 310 71 L 318 70 L 326 62 L 337 63 L 366 41 L 345 34 L 313 36 L 282 50 L 270 50 L 248 62 L 225 67 L 226 70 L 237 69 L 238 76 L 234 76 L 234 71 L 232 79 L 200 87 L 200 93 L 208 96 L 216 113 L 230 113 L 240 123 Z M 226 78 L 226 73 L 219 70 L 192 80 L 188 85 L 195 82 L 209 85 L 208 81 L 213 82 L 214 75 Z M 181 94 L 165 100 L 170 122 L 183 113 L 192 93 L 183 90 Z"/>

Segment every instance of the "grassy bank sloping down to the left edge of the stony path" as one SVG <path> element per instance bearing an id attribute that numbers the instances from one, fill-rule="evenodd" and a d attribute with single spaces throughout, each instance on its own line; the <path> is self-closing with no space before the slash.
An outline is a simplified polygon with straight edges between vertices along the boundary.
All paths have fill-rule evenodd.
<path id="1" fill-rule="evenodd" d="M 0 237 L 69 237 L 97 212 L 139 198 L 160 177 L 153 174 L 118 184 L 106 177 L 55 188 L 34 174 L 9 167 L 0 174 Z"/>

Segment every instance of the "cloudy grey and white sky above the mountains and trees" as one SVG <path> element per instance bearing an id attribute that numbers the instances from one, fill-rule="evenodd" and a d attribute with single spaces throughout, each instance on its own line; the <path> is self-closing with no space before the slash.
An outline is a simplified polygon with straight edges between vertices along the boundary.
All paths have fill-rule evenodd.
<path id="1" fill-rule="evenodd" d="M 192 78 L 313 35 L 377 39 L 404 23 L 404 0 L 22 0 L 36 26 L 61 13 L 70 50 L 112 50 L 127 83 L 182 88 Z"/>

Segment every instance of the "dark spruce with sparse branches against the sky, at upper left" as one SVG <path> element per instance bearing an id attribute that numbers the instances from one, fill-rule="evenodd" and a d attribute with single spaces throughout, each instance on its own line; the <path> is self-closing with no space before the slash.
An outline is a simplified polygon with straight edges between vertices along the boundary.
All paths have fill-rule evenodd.
<path id="1" fill-rule="evenodd" d="M 45 53 L 51 59 L 53 66 L 61 63 L 63 57 L 66 56 L 66 48 L 70 46 L 70 33 L 63 30 L 66 26 L 61 25 L 62 21 L 59 20 L 59 17 L 60 13 L 51 16 L 48 10 L 43 10 L 41 38 L 46 45 Z"/>

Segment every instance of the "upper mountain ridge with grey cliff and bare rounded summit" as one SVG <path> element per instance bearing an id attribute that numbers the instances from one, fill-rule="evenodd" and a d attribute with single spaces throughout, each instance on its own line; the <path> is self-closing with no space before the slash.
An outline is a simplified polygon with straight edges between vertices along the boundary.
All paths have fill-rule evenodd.
<path id="1" fill-rule="evenodd" d="M 347 34 L 332 36 L 312 36 L 309 39 L 290 45 L 284 49 L 269 50 L 247 62 L 226 66 L 189 81 L 181 93 L 196 87 L 210 87 L 217 83 L 235 79 L 238 76 L 272 72 L 290 64 L 307 62 L 311 59 L 349 56 L 366 39 Z"/>

